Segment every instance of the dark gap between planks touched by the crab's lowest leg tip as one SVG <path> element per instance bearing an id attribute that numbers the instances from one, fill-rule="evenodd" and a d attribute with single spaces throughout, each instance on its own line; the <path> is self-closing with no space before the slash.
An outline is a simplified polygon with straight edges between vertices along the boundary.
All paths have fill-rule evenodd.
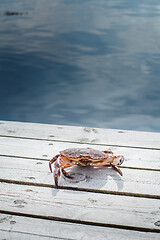
<path id="1" fill-rule="evenodd" d="M 8 179 L 0 179 L 0 182 L 57 189 L 55 187 L 55 185 L 46 184 L 46 183 L 33 183 L 33 182 L 27 182 L 27 181 L 24 182 L 24 181 L 16 181 L 16 180 L 8 180 Z M 160 195 L 140 194 L 140 193 L 130 193 L 130 192 L 118 192 L 118 191 L 100 190 L 100 189 L 92 189 L 92 188 L 89 189 L 89 188 L 81 188 L 81 187 L 59 186 L 58 189 L 69 190 L 69 191 L 72 190 L 72 191 L 77 191 L 77 192 L 112 194 L 112 195 L 127 196 L 127 197 L 160 199 Z"/>

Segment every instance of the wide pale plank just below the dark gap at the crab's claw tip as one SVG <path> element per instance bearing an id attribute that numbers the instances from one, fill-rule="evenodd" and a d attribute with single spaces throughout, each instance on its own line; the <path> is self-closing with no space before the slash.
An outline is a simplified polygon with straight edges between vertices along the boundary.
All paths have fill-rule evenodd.
<path id="1" fill-rule="evenodd" d="M 46 218 L 159 231 L 159 200 L 0 184 L 1 210 Z"/>

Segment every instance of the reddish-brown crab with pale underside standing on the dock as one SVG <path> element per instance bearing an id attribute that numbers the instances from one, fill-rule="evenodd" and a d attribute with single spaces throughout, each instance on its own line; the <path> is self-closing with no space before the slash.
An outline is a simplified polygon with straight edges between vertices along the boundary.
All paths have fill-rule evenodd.
<path id="1" fill-rule="evenodd" d="M 124 161 L 123 156 L 114 156 L 112 151 L 100 151 L 92 148 L 68 148 L 60 151 L 49 161 L 49 168 L 52 172 L 52 164 L 54 163 L 54 180 L 55 186 L 58 188 L 58 180 L 60 174 L 65 177 L 73 178 L 65 171 L 65 168 L 78 166 L 102 167 L 111 166 L 121 176 L 122 171 L 117 167 Z"/>

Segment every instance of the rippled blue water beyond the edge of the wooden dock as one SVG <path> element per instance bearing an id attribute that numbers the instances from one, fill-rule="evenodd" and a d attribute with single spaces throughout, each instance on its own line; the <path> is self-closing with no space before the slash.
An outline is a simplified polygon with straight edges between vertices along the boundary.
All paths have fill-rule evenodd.
<path id="1" fill-rule="evenodd" d="M 0 119 L 160 132 L 160 1 L 0 0 Z"/>

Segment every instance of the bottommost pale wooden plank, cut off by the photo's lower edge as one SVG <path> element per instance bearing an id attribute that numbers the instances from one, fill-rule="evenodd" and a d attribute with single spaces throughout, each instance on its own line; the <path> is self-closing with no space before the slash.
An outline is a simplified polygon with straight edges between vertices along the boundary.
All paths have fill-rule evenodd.
<path id="1" fill-rule="evenodd" d="M 1 239 L 101 239 L 101 240 L 142 240 L 158 239 L 158 233 L 139 232 L 109 227 L 74 224 L 69 222 L 56 222 L 38 218 L 0 215 Z"/>

